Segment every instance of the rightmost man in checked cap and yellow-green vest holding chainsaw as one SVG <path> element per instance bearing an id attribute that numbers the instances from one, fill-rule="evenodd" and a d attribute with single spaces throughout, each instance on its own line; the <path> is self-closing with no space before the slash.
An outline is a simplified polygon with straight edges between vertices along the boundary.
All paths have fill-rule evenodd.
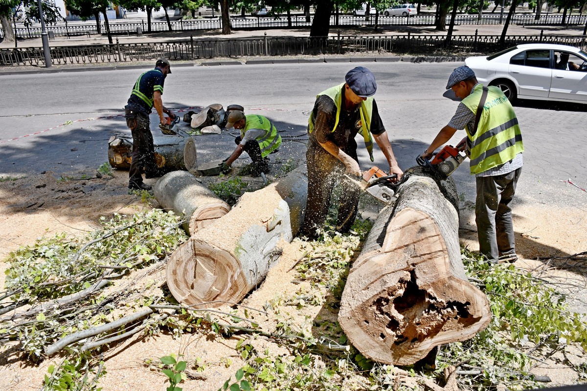
<path id="1" fill-rule="evenodd" d="M 457 129 L 467 132 L 463 141 L 471 159 L 471 174 L 477 182 L 475 222 L 479 252 L 494 263 L 514 262 L 517 256 L 509 203 L 522 172 L 524 151 L 518 118 L 501 90 L 478 83 L 467 66 L 453 71 L 446 89 L 452 89 L 462 101 L 420 158 L 431 158 L 434 150 L 450 140 Z"/>

